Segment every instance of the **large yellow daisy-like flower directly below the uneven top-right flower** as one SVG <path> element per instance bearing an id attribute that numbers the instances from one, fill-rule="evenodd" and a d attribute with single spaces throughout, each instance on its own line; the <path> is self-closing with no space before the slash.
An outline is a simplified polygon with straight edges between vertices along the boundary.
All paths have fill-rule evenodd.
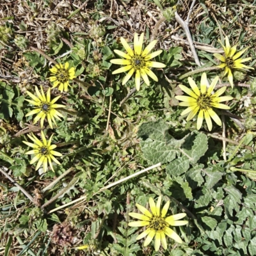
<path id="1" fill-rule="evenodd" d="M 217 82 L 218 82 L 218 76 L 216 76 L 210 87 L 207 89 L 207 77 L 206 74 L 202 74 L 201 77 L 201 86 L 200 90 L 198 89 L 198 86 L 196 85 L 195 81 L 191 77 L 188 78 L 188 83 L 192 90 L 187 88 L 186 86 L 180 84 L 179 87 L 183 92 L 186 92 L 189 96 L 175 96 L 177 100 L 182 100 L 183 102 L 180 102 L 179 106 L 188 107 L 186 108 L 181 115 L 186 115 L 189 113 L 187 117 L 187 121 L 191 120 L 196 113 L 199 111 L 198 118 L 197 118 L 197 129 L 199 130 L 202 127 L 203 119 L 205 117 L 205 121 L 207 123 L 209 131 L 212 130 L 212 120 L 216 122 L 216 124 L 221 126 L 221 120 L 220 117 L 212 110 L 212 108 L 220 108 L 220 109 L 230 109 L 227 105 L 221 104 L 220 102 L 226 101 L 226 100 L 232 100 L 233 98 L 230 96 L 223 96 L 220 97 L 221 94 L 225 92 L 227 87 L 222 87 L 220 90 L 218 90 L 216 93 L 212 94 L 212 91 L 214 90 Z"/>

